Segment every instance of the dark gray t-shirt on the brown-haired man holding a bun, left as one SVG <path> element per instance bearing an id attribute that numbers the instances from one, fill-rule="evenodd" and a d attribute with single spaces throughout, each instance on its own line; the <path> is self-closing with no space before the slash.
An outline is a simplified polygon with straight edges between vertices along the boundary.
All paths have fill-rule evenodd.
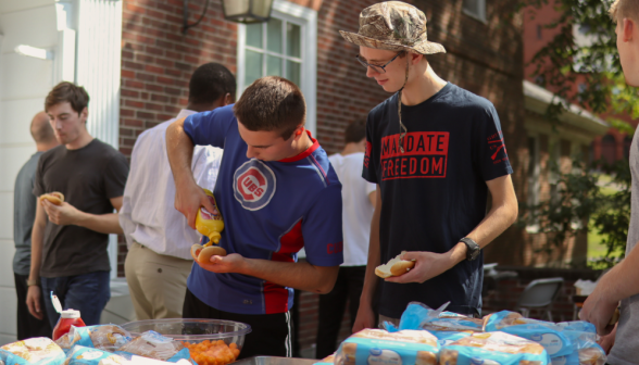
<path id="1" fill-rule="evenodd" d="M 34 193 L 60 191 L 64 201 L 90 214 L 113 213 L 110 199 L 122 197 L 128 176 L 124 155 L 93 139 L 78 150 L 59 146 L 40 156 Z M 40 276 L 74 276 L 111 269 L 106 246 L 109 235 L 84 227 L 59 226 L 50 221 L 45 228 Z"/>

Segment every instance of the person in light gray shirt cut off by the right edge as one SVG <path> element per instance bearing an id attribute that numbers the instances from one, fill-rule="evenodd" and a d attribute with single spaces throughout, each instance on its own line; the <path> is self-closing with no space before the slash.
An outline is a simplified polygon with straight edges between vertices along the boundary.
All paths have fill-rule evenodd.
<path id="1" fill-rule="evenodd" d="M 626 84 L 639 86 L 639 7 L 637 0 L 616 0 L 610 9 L 617 24 L 617 50 Z M 599 335 L 610 331 L 607 323 L 622 303 L 618 324 L 600 341 L 604 349 L 612 350 L 607 363 L 612 365 L 639 364 L 639 129 L 630 147 L 631 213 L 626 259 L 604 275 L 594 291 L 584 303 L 580 317 L 592 323 Z"/>

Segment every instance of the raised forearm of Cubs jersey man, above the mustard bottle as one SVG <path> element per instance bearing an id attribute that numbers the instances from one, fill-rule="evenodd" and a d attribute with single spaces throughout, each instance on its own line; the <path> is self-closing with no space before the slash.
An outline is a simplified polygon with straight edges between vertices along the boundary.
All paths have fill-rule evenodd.
<path id="1" fill-rule="evenodd" d="M 166 154 L 176 186 L 196 184 L 191 172 L 195 147 L 189 136 L 184 131 L 184 121 L 185 118 L 177 119 L 166 128 Z"/>

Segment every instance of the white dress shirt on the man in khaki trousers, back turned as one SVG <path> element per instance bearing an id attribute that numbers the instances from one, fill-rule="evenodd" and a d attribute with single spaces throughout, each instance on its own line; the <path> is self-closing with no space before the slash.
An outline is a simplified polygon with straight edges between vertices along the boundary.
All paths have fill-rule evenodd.
<path id="1" fill-rule="evenodd" d="M 181 110 L 174 119 L 143 131 L 134 146 L 120 211 L 128 248 L 135 240 L 159 254 L 191 260 L 190 247 L 200 241 L 201 235 L 188 226 L 174 205 L 175 182 L 166 155 L 166 128 L 195 113 Z M 196 146 L 191 169 L 200 187 L 213 191 L 222 152 L 211 146 Z"/>

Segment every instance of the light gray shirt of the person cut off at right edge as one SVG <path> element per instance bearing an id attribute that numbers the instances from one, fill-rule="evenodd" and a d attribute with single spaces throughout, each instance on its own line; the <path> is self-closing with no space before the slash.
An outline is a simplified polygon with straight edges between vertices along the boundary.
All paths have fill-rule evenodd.
<path id="1" fill-rule="evenodd" d="M 632 144 L 630 146 L 630 173 L 632 174 L 631 204 L 630 204 L 630 227 L 628 228 L 628 240 L 626 241 L 626 256 L 639 241 L 639 142 L 635 131 Z M 628 278 L 634 280 L 634 278 Z M 622 316 L 615 337 L 615 345 L 612 348 L 607 363 L 612 365 L 639 364 L 639 294 L 622 300 Z"/>

